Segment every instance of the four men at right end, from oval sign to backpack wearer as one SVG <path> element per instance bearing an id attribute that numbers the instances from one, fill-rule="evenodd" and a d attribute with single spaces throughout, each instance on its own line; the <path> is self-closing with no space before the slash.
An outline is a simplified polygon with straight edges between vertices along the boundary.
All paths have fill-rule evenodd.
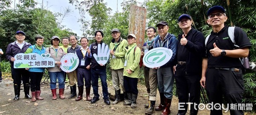
<path id="1" fill-rule="evenodd" d="M 148 92 L 148 103 L 145 104 L 148 109 L 145 114 L 152 114 L 154 110 L 163 110 L 161 115 L 170 114 L 174 80 L 179 99 L 177 115 L 186 115 L 188 106 L 189 115 L 198 114 L 200 85 L 206 88 L 209 103 L 221 105 L 222 95 L 228 104 L 242 103 L 244 67 L 239 58 L 249 55 L 250 40 L 239 27 L 234 28 L 234 40 L 231 40 L 230 29 L 224 25 L 227 16 L 222 6 L 213 6 L 207 11 L 207 16 L 207 23 L 212 26 L 212 32 L 207 39 L 201 32 L 192 28 L 192 17 L 189 14 L 178 17 L 177 22 L 182 34 L 178 35 L 177 39 L 168 33 L 169 26 L 165 21 L 158 23 L 157 29 L 148 27 L 148 40 L 144 43 L 141 54 L 144 55 L 153 48 L 165 47 L 172 49 L 173 55 L 161 67 L 148 68 L 143 65 Z M 158 35 L 154 37 L 156 30 Z M 157 86 L 160 105 L 154 107 Z M 188 102 L 191 104 L 188 105 Z M 229 109 L 231 115 L 244 115 L 241 109 Z M 210 115 L 222 115 L 222 110 L 212 106 Z"/>

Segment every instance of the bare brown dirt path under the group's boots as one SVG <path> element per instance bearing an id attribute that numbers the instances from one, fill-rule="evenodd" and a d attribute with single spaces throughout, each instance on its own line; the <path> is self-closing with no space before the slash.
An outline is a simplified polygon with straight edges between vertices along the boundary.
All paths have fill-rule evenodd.
<path id="1" fill-rule="evenodd" d="M 100 97 L 100 100 L 94 104 L 86 100 L 75 101 L 75 98 L 68 99 L 67 97 L 70 95 L 70 88 L 67 84 L 64 94 L 66 99 L 64 100 L 61 100 L 59 97 L 57 100 L 52 100 L 49 83 L 45 83 L 41 85 L 41 97 L 44 98 L 44 100 L 31 102 L 30 100 L 23 98 L 24 93 L 23 90 L 21 90 L 20 100 L 12 101 L 14 98 L 12 81 L 4 79 L 3 82 L 0 83 L 0 115 L 144 115 L 146 108 L 144 108 L 143 105 L 147 102 L 147 93 L 145 86 L 143 85 L 138 85 L 138 89 L 139 96 L 137 99 L 137 108 L 135 109 L 131 109 L 129 106 L 123 106 L 122 102 L 116 105 L 106 105 L 102 97 Z M 108 91 L 114 94 L 113 86 L 111 86 L 111 84 L 108 85 Z M 101 86 L 99 86 L 99 94 L 102 95 Z M 90 96 L 93 97 L 93 94 Z M 112 102 L 113 101 L 111 101 L 111 103 Z M 158 106 L 159 103 L 160 98 L 159 94 L 157 94 L 156 105 Z M 171 106 L 171 115 L 177 114 L 177 104 L 178 99 L 174 96 Z M 156 111 L 152 115 L 160 115 L 160 113 L 160 111 Z M 209 111 L 200 110 L 198 115 L 209 115 Z M 224 115 L 229 114 L 224 113 Z"/>

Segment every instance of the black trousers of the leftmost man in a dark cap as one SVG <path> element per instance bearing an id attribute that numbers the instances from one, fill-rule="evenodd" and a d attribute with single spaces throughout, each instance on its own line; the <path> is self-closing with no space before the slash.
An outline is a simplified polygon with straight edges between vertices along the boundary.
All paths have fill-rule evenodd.
<path id="1" fill-rule="evenodd" d="M 27 71 L 25 68 L 15 69 L 11 67 L 11 71 L 14 84 L 20 85 L 21 80 L 23 80 L 23 84 L 29 84 L 29 71 Z"/>

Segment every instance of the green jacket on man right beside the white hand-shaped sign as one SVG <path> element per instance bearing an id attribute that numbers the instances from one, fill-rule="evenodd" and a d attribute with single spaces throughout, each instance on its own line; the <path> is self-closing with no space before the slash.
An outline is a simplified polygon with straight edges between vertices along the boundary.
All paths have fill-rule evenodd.
<path id="1" fill-rule="evenodd" d="M 110 56 L 110 67 L 111 69 L 122 69 L 124 68 L 125 63 L 125 50 L 124 48 L 128 46 L 128 42 L 125 39 L 122 39 L 122 37 L 119 37 L 119 40 L 117 43 L 115 43 L 115 39 L 111 40 L 111 43 L 109 44 L 109 49 L 114 50 L 115 49 L 115 57 Z M 115 48 L 116 47 L 116 48 Z"/>

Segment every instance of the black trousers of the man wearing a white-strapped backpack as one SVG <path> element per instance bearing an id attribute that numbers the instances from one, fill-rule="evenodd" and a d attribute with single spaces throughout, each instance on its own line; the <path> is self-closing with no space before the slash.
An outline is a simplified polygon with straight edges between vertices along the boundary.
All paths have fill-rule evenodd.
<path id="1" fill-rule="evenodd" d="M 225 69 L 208 68 L 206 71 L 206 90 L 209 97 L 209 103 L 222 104 L 222 95 L 224 95 L 227 104 L 238 105 L 242 103 L 242 93 L 244 92 L 244 80 L 241 69 L 234 72 Z M 243 110 L 230 109 L 230 115 L 244 115 Z M 211 110 L 210 115 L 222 115 L 221 110 Z"/>

